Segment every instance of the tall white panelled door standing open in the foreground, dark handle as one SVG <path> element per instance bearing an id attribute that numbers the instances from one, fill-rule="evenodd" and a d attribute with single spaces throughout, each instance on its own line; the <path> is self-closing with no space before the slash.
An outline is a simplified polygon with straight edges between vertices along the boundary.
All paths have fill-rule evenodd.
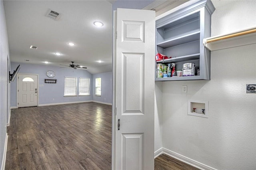
<path id="1" fill-rule="evenodd" d="M 115 14 L 112 169 L 153 170 L 155 11 Z"/>

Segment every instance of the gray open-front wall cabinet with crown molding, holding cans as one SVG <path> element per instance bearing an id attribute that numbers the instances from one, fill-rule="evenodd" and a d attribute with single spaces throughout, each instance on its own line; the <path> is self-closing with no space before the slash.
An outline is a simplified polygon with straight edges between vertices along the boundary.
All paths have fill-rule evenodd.
<path id="1" fill-rule="evenodd" d="M 156 63 L 175 63 L 179 71 L 185 63 L 194 63 L 196 74 L 163 77 L 156 68 L 155 81 L 210 80 L 210 51 L 203 39 L 210 37 L 214 10 L 210 0 L 195 0 L 156 20 L 156 53 L 169 57 Z"/>

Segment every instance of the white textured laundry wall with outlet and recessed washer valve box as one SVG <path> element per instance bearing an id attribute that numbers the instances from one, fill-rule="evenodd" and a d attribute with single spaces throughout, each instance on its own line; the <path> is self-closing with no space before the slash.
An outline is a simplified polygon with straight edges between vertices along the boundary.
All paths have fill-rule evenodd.
<path id="1" fill-rule="evenodd" d="M 256 25 L 256 1 L 213 1 L 212 36 Z M 163 147 L 218 170 L 256 167 L 256 44 L 211 52 L 210 81 L 163 82 Z M 188 93 L 182 93 L 182 85 Z M 209 118 L 187 115 L 209 102 Z"/>

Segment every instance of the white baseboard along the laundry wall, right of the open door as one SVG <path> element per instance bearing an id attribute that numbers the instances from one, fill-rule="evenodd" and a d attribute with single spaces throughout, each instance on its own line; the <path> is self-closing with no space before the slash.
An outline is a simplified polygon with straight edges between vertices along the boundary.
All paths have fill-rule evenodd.
<path id="1" fill-rule="evenodd" d="M 175 159 L 177 159 L 177 160 L 180 160 L 180 161 L 182 161 L 182 162 L 185 162 L 186 164 L 189 164 L 189 165 L 191 165 L 191 166 L 194 166 L 194 167 L 196 167 L 196 168 L 198 168 L 198 169 L 200 169 L 200 170 L 216 170 L 215 168 L 212 168 L 212 167 L 210 167 L 210 166 L 207 166 L 207 165 L 205 165 L 205 164 L 202 164 L 202 163 L 200 163 L 200 162 L 197 162 L 197 161 L 195 161 L 195 160 L 192 160 L 192 159 L 190 159 L 190 158 L 188 158 L 188 157 L 186 157 L 186 156 L 183 156 L 183 155 L 181 155 L 181 154 L 178 154 L 178 153 L 173 152 L 173 151 L 171 151 L 171 150 L 168 150 L 168 149 L 166 149 L 166 148 L 160 148 L 160 149 L 158 149 L 158 150 L 154 153 L 155 158 L 158 157 L 158 156 L 160 156 L 161 154 L 166 154 L 166 155 L 168 155 L 168 156 L 171 156 L 172 158 L 175 158 Z"/>

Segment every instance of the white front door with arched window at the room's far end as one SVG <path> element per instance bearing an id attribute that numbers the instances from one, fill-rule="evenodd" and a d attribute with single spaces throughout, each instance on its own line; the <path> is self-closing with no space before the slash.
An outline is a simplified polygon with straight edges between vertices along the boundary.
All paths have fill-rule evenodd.
<path id="1" fill-rule="evenodd" d="M 18 107 L 37 106 L 38 75 L 18 74 Z"/>

